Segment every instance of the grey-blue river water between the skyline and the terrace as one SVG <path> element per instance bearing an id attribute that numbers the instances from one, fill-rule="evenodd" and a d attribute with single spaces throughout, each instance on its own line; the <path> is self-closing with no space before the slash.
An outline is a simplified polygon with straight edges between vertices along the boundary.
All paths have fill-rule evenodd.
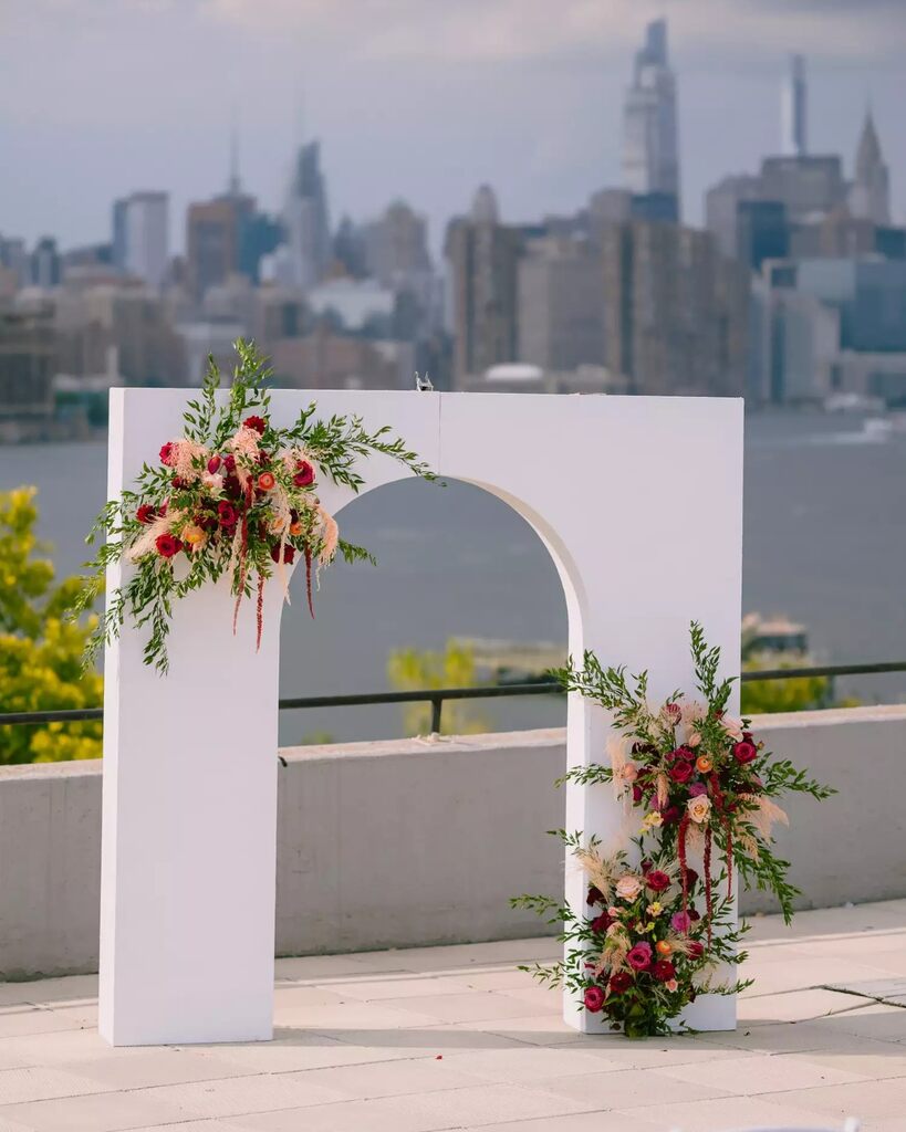
<path id="1" fill-rule="evenodd" d="M 61 574 L 84 560 L 83 537 L 105 489 L 102 443 L 0 447 L 0 489 L 40 489 L 40 533 Z M 442 649 L 451 636 L 564 641 L 556 571 L 506 505 L 461 483 L 403 482 L 344 509 L 343 533 L 378 568 L 337 565 L 316 594 L 301 585 L 284 611 L 281 694 L 377 692 L 392 649 Z M 752 414 L 745 441 L 744 609 L 804 623 L 828 662 L 906 658 L 906 434 L 861 419 Z M 903 677 L 840 681 L 863 701 L 906 698 Z M 492 726 L 556 726 L 557 700 L 481 706 Z M 281 741 L 319 732 L 339 740 L 401 734 L 394 706 L 281 713 Z"/>

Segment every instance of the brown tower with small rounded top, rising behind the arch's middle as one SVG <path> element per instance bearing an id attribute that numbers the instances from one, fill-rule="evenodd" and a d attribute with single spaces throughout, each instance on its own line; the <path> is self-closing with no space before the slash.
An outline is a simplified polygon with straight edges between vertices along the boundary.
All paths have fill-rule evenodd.
<path id="1" fill-rule="evenodd" d="M 523 234 L 501 223 L 493 189 L 482 185 L 471 214 L 450 223 L 445 254 L 453 333 L 453 381 L 516 361 L 518 263 Z"/>

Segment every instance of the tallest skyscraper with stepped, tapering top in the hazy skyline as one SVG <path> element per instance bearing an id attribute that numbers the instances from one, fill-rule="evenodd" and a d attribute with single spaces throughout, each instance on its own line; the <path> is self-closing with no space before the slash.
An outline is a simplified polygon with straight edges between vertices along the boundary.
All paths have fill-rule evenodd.
<path id="1" fill-rule="evenodd" d="M 678 216 L 676 76 L 667 59 L 665 19 L 648 25 L 644 45 L 635 53 L 623 108 L 623 180 L 634 194 L 675 198 Z"/>

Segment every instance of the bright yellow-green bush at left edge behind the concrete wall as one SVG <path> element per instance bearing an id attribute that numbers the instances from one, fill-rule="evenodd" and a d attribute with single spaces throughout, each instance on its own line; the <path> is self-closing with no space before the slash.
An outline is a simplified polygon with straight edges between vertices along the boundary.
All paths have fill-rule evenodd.
<path id="1" fill-rule="evenodd" d="M 80 664 L 91 623 L 63 617 L 79 581 L 54 583 L 49 548 L 35 537 L 35 495 L 0 492 L 0 712 L 96 707 L 103 680 Z M 100 722 L 0 729 L 2 763 L 100 756 Z"/>

